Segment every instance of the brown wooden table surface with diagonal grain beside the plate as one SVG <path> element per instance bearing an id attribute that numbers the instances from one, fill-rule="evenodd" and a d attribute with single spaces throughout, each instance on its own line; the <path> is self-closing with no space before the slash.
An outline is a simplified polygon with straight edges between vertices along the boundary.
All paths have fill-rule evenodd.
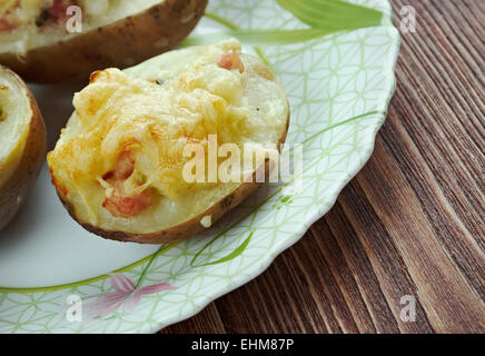
<path id="1" fill-rule="evenodd" d="M 417 27 L 369 162 L 267 271 L 161 333 L 485 333 L 485 1 L 392 4 Z"/>

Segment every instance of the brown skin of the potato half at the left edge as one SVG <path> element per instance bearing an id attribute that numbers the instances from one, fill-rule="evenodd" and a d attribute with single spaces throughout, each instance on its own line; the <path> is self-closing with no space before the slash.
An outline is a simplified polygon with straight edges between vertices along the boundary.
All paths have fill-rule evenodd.
<path id="1" fill-rule="evenodd" d="M 24 87 L 22 79 L 14 72 L 6 69 Z M 29 96 L 32 118 L 22 158 L 3 187 L 0 188 L 0 230 L 4 228 L 17 215 L 27 195 L 33 187 L 46 157 L 46 127 L 36 99 L 26 87 Z"/>

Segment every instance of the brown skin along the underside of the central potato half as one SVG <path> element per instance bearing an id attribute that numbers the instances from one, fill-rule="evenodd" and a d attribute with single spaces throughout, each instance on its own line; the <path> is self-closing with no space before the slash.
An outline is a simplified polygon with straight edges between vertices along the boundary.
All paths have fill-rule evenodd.
<path id="1" fill-rule="evenodd" d="M 279 144 L 284 144 L 286 140 L 288 127 L 289 127 L 289 110 L 288 110 L 288 118 L 287 118 L 287 122 L 286 122 L 286 129 L 278 141 L 278 148 L 280 146 Z M 268 176 L 268 172 L 269 172 L 268 165 L 269 165 L 269 160 L 266 160 L 266 162 L 265 162 L 266 176 Z M 151 233 L 151 234 L 129 234 L 129 233 L 123 233 L 123 231 L 107 231 L 107 230 L 103 230 L 99 227 L 92 226 L 90 224 L 79 221 L 79 219 L 76 216 L 76 211 L 75 211 L 73 206 L 63 198 L 63 195 L 59 191 L 59 189 L 57 189 L 57 192 L 58 192 L 60 200 L 62 201 L 62 205 L 69 211 L 69 215 L 88 231 L 96 234 L 98 236 L 101 236 L 106 239 L 111 239 L 111 240 L 118 240 L 118 241 L 123 241 L 123 243 L 159 245 L 159 244 L 172 244 L 172 243 L 181 241 L 181 240 L 187 239 L 196 234 L 204 231 L 205 227 L 200 224 L 200 220 L 205 216 L 210 215 L 211 222 L 214 225 L 226 212 L 234 209 L 242 200 L 245 200 L 248 196 L 250 196 L 253 192 L 255 192 L 256 189 L 259 188 L 259 186 L 261 186 L 261 184 L 256 182 L 256 172 L 255 172 L 253 176 L 253 182 L 241 184 L 234 192 L 231 192 L 230 195 L 224 197 L 222 199 L 220 199 L 219 201 L 214 204 L 209 209 L 207 209 L 202 214 L 200 214 L 200 215 L 196 216 L 195 218 L 192 218 L 188 221 L 185 221 L 182 224 L 172 226 L 168 229 Z"/>

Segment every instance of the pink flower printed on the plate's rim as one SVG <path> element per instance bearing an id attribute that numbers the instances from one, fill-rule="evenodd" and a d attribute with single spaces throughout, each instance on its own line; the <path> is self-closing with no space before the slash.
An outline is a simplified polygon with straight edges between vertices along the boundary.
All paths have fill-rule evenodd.
<path id="1" fill-rule="evenodd" d="M 132 312 L 140 303 L 142 296 L 177 289 L 177 287 L 169 283 L 159 283 L 139 288 L 130 278 L 120 274 L 110 275 L 110 283 L 115 291 L 96 294 L 85 298 L 98 298 L 98 300 L 83 306 L 88 318 L 106 317 L 118 309 Z"/>

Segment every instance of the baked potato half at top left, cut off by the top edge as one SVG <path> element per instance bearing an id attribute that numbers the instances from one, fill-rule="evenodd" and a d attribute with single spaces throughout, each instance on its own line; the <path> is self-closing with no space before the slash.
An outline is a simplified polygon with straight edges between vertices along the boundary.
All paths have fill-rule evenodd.
<path id="1" fill-rule="evenodd" d="M 68 11 L 71 6 L 81 9 L 81 21 Z M 4 0 L 0 63 L 36 82 L 126 68 L 175 48 L 206 6 L 207 0 Z M 81 31 L 71 33 L 68 24 Z"/>

